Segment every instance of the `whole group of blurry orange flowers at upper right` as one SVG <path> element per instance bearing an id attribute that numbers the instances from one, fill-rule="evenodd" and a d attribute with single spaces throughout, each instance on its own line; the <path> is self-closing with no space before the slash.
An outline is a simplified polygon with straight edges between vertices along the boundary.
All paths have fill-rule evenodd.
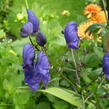
<path id="1" fill-rule="evenodd" d="M 88 20 L 79 25 L 78 35 L 80 38 L 91 39 L 93 36 L 89 35 L 90 32 L 85 33 L 86 29 L 94 23 L 106 23 L 105 13 L 99 5 L 89 4 L 84 10 L 84 15 L 87 16 Z"/>

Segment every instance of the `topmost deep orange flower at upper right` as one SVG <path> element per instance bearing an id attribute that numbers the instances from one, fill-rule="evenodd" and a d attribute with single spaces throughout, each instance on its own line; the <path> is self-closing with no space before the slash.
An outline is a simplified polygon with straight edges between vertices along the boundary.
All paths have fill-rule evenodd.
<path id="1" fill-rule="evenodd" d="M 86 6 L 84 14 L 85 15 L 92 15 L 92 14 L 97 14 L 101 11 L 101 7 L 96 4 L 89 4 Z"/>

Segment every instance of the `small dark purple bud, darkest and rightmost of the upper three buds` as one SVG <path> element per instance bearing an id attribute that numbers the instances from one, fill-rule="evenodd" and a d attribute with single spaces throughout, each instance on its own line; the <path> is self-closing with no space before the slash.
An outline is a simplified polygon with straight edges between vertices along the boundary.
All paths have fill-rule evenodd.
<path id="1" fill-rule="evenodd" d="M 46 36 L 42 32 L 38 32 L 36 35 L 36 40 L 40 46 L 44 46 L 47 42 Z"/>

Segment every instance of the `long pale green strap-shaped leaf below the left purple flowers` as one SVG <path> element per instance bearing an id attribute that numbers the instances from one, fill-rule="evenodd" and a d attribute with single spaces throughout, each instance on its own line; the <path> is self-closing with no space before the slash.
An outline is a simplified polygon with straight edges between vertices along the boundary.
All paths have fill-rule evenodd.
<path id="1" fill-rule="evenodd" d="M 80 106 L 82 104 L 82 101 L 79 97 L 77 97 L 76 95 L 71 94 L 61 88 L 51 87 L 46 90 L 40 90 L 40 91 L 49 93 L 53 96 L 56 96 L 74 106 Z"/>

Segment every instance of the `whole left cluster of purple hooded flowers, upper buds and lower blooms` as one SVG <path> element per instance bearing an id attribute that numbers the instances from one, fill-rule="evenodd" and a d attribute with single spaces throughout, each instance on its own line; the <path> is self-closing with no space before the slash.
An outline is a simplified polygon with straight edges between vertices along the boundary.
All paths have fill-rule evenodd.
<path id="1" fill-rule="evenodd" d="M 28 22 L 21 28 L 21 36 L 36 35 L 36 41 L 39 46 L 44 46 L 46 44 L 46 37 L 40 32 L 38 18 L 31 10 L 27 10 L 27 13 Z M 25 82 L 33 91 L 36 91 L 40 82 L 46 85 L 50 80 L 50 64 L 47 55 L 41 50 L 37 55 L 37 61 L 35 61 L 34 46 L 28 43 L 24 45 L 22 56 Z"/>

